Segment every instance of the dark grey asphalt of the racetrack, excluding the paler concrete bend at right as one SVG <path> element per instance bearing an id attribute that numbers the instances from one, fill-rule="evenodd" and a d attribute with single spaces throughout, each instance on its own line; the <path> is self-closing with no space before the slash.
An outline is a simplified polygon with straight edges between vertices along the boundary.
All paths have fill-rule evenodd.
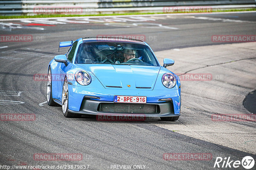
<path id="1" fill-rule="evenodd" d="M 256 35 L 256 13 L 253 12 L 146 17 L 151 20 L 140 22 L 127 21 L 127 18 L 126 22 L 106 24 L 106 20 L 101 20 L 103 22 L 57 23 L 52 26 L 42 25 L 42 21 L 0 21 L 1 35 L 33 36 L 32 42 L 0 42 L 0 113 L 36 114 L 35 121 L 0 122 L 1 165 L 80 164 L 90 165 L 89 169 L 111 169 L 111 165 L 145 165 L 145 169 L 215 169 L 213 165 L 217 157 L 241 161 L 244 156 L 252 156 L 256 160 L 255 151 L 248 153 L 196 139 L 158 127 L 152 121 L 101 122 L 88 117 L 65 118 L 61 107 L 49 107 L 45 103 L 46 81 L 34 81 L 33 75 L 47 74 L 48 63 L 54 55 L 66 53 L 68 49 L 65 48 L 58 53 L 59 40 L 113 34 L 142 35 L 154 51 L 161 51 L 223 44 L 212 42 L 212 35 Z M 16 25 L 10 26 L 9 23 Z M 31 29 L 31 26 L 44 30 Z M 252 62 L 255 63 L 255 60 Z M 240 67 L 246 67 L 246 64 Z M 190 100 L 193 100 L 193 95 Z M 184 111 L 187 114 L 201 113 L 202 108 L 197 109 Z M 216 110 L 211 111 L 216 113 Z M 160 119 L 153 121 L 155 124 L 159 122 Z M 181 123 L 177 121 L 175 124 Z M 255 129 L 255 122 L 246 126 Z M 35 161 L 35 153 L 81 153 L 83 160 Z M 163 159 L 164 153 L 211 153 L 212 160 L 169 161 Z"/>

